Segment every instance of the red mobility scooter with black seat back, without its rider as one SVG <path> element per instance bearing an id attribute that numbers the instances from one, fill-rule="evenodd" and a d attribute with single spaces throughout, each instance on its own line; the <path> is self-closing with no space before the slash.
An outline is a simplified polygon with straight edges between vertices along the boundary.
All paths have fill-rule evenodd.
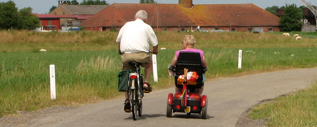
<path id="1" fill-rule="evenodd" d="M 207 68 L 201 64 L 200 54 L 198 52 L 180 52 L 175 67 L 169 67 L 170 72 L 174 72 L 175 85 L 183 87 L 182 92 L 168 94 L 166 116 L 171 117 L 172 113 L 183 112 L 190 115 L 191 113 L 201 114 L 201 118 L 207 118 L 207 96 L 196 93 L 196 88 L 203 85 L 203 74 Z M 189 73 L 187 73 L 187 71 Z M 187 74 L 195 72 L 198 75 L 196 80 L 186 79 Z M 184 75 L 184 78 L 179 78 Z M 191 76 L 191 78 L 194 76 Z"/>

